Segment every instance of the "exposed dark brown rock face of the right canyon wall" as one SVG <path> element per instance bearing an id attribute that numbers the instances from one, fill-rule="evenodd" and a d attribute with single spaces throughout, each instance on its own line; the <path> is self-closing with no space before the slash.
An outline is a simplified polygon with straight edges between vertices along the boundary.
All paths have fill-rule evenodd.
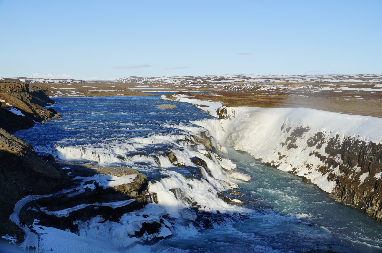
<path id="1" fill-rule="evenodd" d="M 308 129 L 295 128 L 286 129 L 285 151 L 296 150 L 303 146 L 301 141 Z M 324 175 L 327 182 L 333 182 L 330 191 L 332 197 L 338 202 L 352 205 L 363 210 L 367 215 L 382 221 L 382 144 L 357 140 L 354 137 L 341 138 L 340 135 L 324 138 L 325 133 L 317 132 L 304 143 L 312 149 L 307 162 L 306 169 L 311 169 L 313 161 L 321 163 L 315 171 Z M 325 152 L 320 152 L 323 148 Z M 282 151 L 279 150 L 279 151 Z M 266 164 L 276 168 L 283 165 L 283 156 L 287 152 L 278 152 L 278 160 L 264 161 Z M 289 172 L 301 175 L 301 167 L 292 166 Z M 304 172 L 305 173 L 305 172 Z M 311 180 L 309 174 L 301 175 Z M 308 176 L 308 177 L 307 177 Z"/>

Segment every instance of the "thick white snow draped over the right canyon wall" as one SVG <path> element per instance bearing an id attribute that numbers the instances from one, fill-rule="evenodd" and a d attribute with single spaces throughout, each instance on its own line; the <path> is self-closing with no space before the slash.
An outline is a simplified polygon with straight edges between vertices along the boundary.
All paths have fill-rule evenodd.
<path id="1" fill-rule="evenodd" d="M 319 172 L 321 167 L 327 165 L 322 157 L 331 155 L 327 153 L 327 148 L 332 138 L 338 143 L 349 139 L 382 143 L 380 118 L 309 108 L 253 107 L 227 108 L 224 116 L 226 119 L 220 120 L 220 127 L 204 125 L 219 142 L 246 151 L 280 170 L 306 177 L 329 193 L 332 193 L 336 182 L 328 181 L 327 177 L 329 173 L 340 175 L 338 166 L 343 162 L 337 154 L 334 159 L 338 166 L 327 173 Z M 317 134 L 320 137 L 318 140 Z M 356 179 L 361 175 L 359 171 L 353 176 Z"/>

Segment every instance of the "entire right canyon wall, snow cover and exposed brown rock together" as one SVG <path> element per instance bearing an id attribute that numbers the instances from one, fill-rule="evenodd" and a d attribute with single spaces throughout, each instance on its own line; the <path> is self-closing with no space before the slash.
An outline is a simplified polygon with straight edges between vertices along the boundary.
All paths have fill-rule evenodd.
<path id="1" fill-rule="evenodd" d="M 308 108 L 222 107 L 215 141 L 294 173 L 382 220 L 382 119 Z"/>

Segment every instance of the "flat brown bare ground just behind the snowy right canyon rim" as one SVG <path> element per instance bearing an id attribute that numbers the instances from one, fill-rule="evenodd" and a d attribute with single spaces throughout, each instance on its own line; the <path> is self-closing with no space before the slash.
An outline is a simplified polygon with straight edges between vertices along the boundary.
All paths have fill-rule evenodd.
<path id="1" fill-rule="evenodd" d="M 222 102 L 226 107 L 305 107 L 382 118 L 382 93 L 358 91 L 305 93 L 294 91 L 223 91 L 190 93 L 192 99 Z M 356 96 L 356 97 L 354 97 Z M 171 99 L 170 94 L 166 95 Z"/>

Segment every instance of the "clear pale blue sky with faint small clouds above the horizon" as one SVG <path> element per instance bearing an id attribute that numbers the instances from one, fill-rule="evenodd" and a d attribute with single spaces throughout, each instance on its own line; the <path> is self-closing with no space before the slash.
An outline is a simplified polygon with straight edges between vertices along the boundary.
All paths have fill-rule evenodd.
<path id="1" fill-rule="evenodd" d="M 382 0 L 0 0 L 0 76 L 382 73 Z"/>

